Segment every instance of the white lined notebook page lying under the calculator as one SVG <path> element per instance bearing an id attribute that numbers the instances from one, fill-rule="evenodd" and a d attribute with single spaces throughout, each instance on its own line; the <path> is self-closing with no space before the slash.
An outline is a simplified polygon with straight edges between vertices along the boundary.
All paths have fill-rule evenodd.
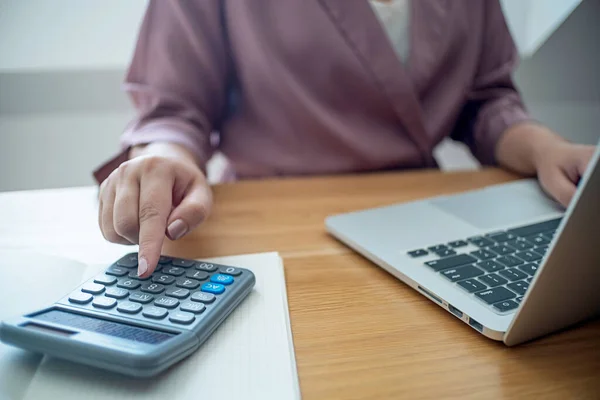
<path id="1" fill-rule="evenodd" d="M 150 380 L 46 358 L 25 399 L 299 398 L 280 257 L 267 253 L 213 261 L 252 270 L 256 285 L 196 353 Z"/>

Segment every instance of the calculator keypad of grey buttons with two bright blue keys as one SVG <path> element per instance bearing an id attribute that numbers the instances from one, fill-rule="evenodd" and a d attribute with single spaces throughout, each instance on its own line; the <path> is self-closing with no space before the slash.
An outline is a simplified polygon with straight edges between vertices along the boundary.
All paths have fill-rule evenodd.
<path id="1" fill-rule="evenodd" d="M 82 285 L 66 301 L 138 320 L 191 325 L 233 290 L 244 270 L 162 256 L 148 278 L 137 276 L 137 254 L 127 255 Z"/>

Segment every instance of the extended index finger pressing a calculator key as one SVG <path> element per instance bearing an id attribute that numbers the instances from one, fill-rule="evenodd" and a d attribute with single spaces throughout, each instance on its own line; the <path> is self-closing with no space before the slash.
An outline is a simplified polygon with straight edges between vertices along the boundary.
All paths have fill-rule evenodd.
<path id="1" fill-rule="evenodd" d="M 173 178 L 164 174 L 142 176 L 139 205 L 138 275 L 147 277 L 156 269 L 171 212 Z"/>

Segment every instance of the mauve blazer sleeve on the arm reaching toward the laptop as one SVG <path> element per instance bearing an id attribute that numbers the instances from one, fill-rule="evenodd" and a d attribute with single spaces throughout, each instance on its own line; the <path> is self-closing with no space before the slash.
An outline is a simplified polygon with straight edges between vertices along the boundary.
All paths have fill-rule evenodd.
<path id="1" fill-rule="evenodd" d="M 495 149 L 502 134 L 531 118 L 512 79 L 519 54 L 502 7 L 498 0 L 483 3 L 479 66 L 451 136 L 467 144 L 483 165 L 496 165 Z"/>

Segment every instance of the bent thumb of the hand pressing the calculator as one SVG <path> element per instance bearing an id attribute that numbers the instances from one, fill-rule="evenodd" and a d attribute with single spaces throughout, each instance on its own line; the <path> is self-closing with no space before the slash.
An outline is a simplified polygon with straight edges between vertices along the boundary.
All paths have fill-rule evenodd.
<path id="1" fill-rule="evenodd" d="M 200 181 L 184 194 L 183 199 L 171 211 L 167 222 L 167 237 L 177 240 L 200 225 L 212 208 L 212 194 L 206 182 Z"/>

